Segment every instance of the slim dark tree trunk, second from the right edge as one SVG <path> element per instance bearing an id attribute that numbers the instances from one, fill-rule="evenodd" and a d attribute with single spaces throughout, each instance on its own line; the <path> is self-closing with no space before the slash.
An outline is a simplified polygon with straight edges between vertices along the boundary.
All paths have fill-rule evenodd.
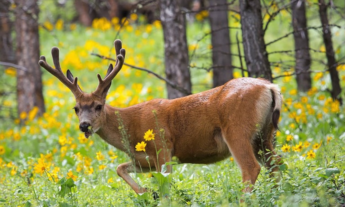
<path id="1" fill-rule="evenodd" d="M 307 19 L 305 16 L 305 0 L 292 0 L 292 26 L 295 40 L 295 72 L 299 91 L 308 91 L 312 88 L 310 73 L 309 37 Z"/>

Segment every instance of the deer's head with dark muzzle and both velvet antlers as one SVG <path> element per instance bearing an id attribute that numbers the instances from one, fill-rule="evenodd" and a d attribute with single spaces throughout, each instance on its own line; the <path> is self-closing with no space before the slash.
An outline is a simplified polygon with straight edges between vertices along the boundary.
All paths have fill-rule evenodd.
<path id="1" fill-rule="evenodd" d="M 106 96 L 112 79 L 117 75 L 124 64 L 126 50 L 122 48 L 121 40 L 115 40 L 114 47 L 117 57 L 115 68 L 110 64 L 104 79 L 102 79 L 100 74 L 97 74 L 99 84 L 96 90 L 92 93 L 85 93 L 80 89 L 78 85 L 78 77 L 74 78 L 70 70 L 67 70 L 66 76 L 62 73 L 59 60 L 59 48 L 53 47 L 51 49 L 55 69 L 47 63 L 45 56 L 41 56 L 38 62 L 40 66 L 57 77 L 74 94 L 76 105 L 73 109 L 79 119 L 79 129 L 85 133 L 86 138 L 89 138 L 92 133 L 97 132 L 102 126 L 102 123 L 105 122 L 106 112 L 104 105 L 106 102 Z"/>

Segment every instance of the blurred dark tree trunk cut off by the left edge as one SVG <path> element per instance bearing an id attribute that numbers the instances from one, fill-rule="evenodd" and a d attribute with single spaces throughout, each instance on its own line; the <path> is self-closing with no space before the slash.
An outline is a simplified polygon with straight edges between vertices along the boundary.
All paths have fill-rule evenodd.
<path id="1" fill-rule="evenodd" d="M 10 4 L 10 1 L 0 2 L 0 61 L 16 64 L 11 37 L 13 22 L 9 16 Z"/>

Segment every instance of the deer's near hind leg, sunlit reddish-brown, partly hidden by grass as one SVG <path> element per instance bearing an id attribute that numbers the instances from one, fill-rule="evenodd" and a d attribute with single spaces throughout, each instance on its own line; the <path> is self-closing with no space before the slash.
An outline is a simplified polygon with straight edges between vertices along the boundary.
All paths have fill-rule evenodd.
<path id="1" fill-rule="evenodd" d="M 249 133 L 234 133 L 231 129 L 223 133 L 224 141 L 227 143 L 234 160 L 242 172 L 242 181 L 254 185 L 261 167 L 255 158 L 252 145 L 250 144 L 251 137 L 252 135 Z M 252 188 L 248 186 L 244 191 L 250 192 Z"/>

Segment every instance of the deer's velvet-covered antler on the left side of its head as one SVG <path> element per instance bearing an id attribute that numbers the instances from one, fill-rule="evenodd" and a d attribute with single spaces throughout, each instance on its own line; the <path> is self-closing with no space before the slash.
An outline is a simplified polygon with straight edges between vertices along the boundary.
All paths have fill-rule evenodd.
<path id="1" fill-rule="evenodd" d="M 38 64 L 45 68 L 49 73 L 51 73 L 53 76 L 57 77 L 63 84 L 65 84 L 74 94 L 74 96 L 77 98 L 79 95 L 81 95 L 83 92 L 80 90 L 78 86 L 78 77 L 74 78 L 69 70 L 67 70 L 67 76 L 70 74 L 71 78 L 68 79 L 65 75 L 63 75 L 61 66 L 60 66 L 60 60 L 59 60 L 59 48 L 53 47 L 51 48 L 51 56 L 53 57 L 53 63 L 55 66 L 55 69 L 52 68 L 46 61 L 45 56 L 41 56 Z"/>

